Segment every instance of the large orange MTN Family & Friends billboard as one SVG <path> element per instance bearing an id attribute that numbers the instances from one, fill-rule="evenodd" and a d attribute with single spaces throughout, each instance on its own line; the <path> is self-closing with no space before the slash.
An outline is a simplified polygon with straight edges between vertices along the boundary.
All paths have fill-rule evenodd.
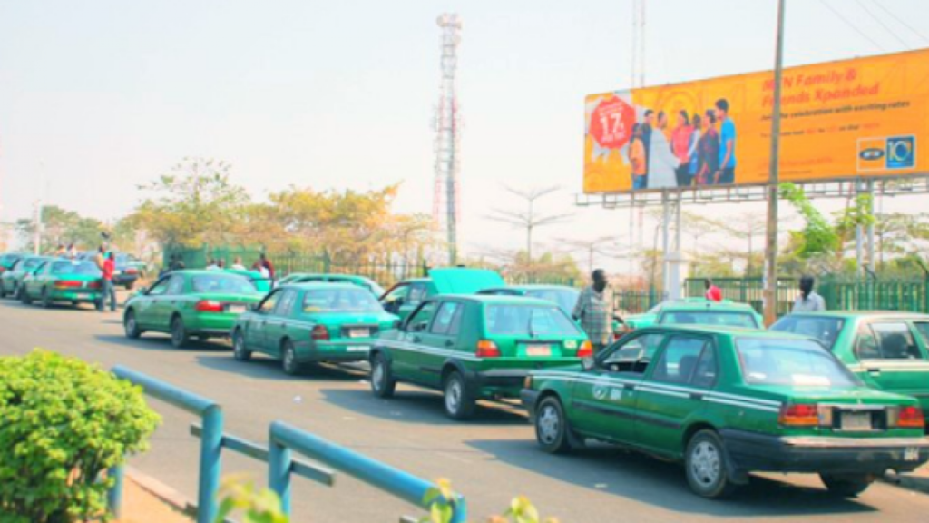
<path id="1" fill-rule="evenodd" d="M 588 96 L 584 193 L 765 183 L 773 95 L 764 72 Z M 784 69 L 780 125 L 781 181 L 929 173 L 929 49 Z"/>

